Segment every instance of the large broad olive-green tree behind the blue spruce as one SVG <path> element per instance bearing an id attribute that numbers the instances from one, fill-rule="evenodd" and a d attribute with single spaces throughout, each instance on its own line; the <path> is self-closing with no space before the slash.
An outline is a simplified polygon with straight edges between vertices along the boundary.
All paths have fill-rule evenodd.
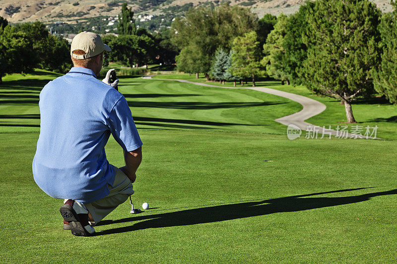
<path id="1" fill-rule="evenodd" d="M 178 68 L 189 72 L 200 70 L 207 79 L 211 60 L 218 47 L 230 50 L 237 36 L 258 27 L 258 17 L 248 8 L 221 4 L 214 8 L 197 7 L 190 9 L 186 17 L 179 17 L 172 23 L 172 42 L 181 50 L 176 61 Z M 188 54 L 190 52 L 195 54 Z M 201 65 L 191 66 L 192 58 Z M 196 72 L 198 73 L 198 72 Z"/>

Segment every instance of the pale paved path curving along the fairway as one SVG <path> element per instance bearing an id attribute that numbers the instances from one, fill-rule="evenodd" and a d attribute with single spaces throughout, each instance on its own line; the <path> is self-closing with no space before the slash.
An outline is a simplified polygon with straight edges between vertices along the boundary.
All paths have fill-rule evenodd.
<path id="1" fill-rule="evenodd" d="M 143 76 L 143 79 L 152 79 L 152 76 Z M 266 87 L 225 87 L 225 86 L 216 86 L 216 85 L 211 85 L 211 84 L 206 84 L 206 83 L 199 83 L 199 82 L 192 82 L 192 81 L 187 81 L 187 80 L 181 80 L 181 79 L 153 79 L 153 80 L 163 80 L 163 81 L 178 81 L 182 83 L 191 83 L 191 84 L 196 84 L 196 85 L 201 85 L 201 86 L 207 86 L 207 87 L 216 87 L 216 88 L 228 88 L 228 89 L 251 89 L 251 90 L 256 90 L 260 92 L 264 92 L 267 94 L 272 94 L 276 96 L 281 96 L 284 98 L 287 98 L 289 100 L 295 101 L 303 106 L 303 109 L 300 110 L 299 112 L 283 116 L 280 118 L 275 119 L 274 121 L 281 123 L 286 126 L 294 125 L 298 127 L 301 130 L 305 131 L 310 131 L 311 135 L 313 135 L 314 131 L 318 132 L 319 134 L 325 134 L 325 137 L 329 137 L 329 135 L 337 136 L 337 131 L 333 129 L 328 129 L 327 127 L 323 128 L 320 126 L 316 126 L 313 124 L 310 124 L 308 122 L 305 122 L 306 119 L 309 119 L 312 116 L 315 116 L 321 112 L 323 112 L 327 106 L 324 105 L 323 103 L 320 103 L 316 100 L 310 99 L 305 96 L 301 95 L 296 95 L 296 94 L 291 94 L 275 89 L 270 89 Z M 339 132 L 340 134 L 340 132 Z M 356 134 L 350 134 L 346 133 L 347 137 L 354 137 L 354 138 L 366 138 L 363 135 L 356 135 Z M 346 135 L 344 134 L 344 135 Z M 369 138 L 369 137 L 368 137 Z"/>

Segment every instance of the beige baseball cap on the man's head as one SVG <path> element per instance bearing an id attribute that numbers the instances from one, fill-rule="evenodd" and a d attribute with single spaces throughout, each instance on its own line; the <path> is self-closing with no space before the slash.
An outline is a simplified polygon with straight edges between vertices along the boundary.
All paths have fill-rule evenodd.
<path id="1" fill-rule="evenodd" d="M 73 54 L 75 50 L 82 50 L 86 54 Z M 71 41 L 70 56 L 75 59 L 90 58 L 103 51 L 110 52 L 111 49 L 108 45 L 103 44 L 101 36 L 92 32 L 83 31 L 78 33 Z"/>

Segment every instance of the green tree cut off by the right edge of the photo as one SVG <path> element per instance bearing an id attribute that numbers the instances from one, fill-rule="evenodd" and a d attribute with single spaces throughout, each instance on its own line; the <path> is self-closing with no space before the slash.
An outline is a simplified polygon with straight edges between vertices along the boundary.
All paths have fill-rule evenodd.
<path id="1" fill-rule="evenodd" d="M 397 104 L 397 10 L 396 1 L 392 1 L 394 11 L 382 16 L 380 32 L 382 36 L 382 62 L 374 71 L 375 90 L 392 104 Z"/>

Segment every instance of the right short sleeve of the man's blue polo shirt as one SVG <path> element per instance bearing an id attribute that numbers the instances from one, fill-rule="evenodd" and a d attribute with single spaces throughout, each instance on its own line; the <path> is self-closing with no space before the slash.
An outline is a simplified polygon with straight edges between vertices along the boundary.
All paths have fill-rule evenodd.
<path id="1" fill-rule="evenodd" d="M 142 146 L 130 107 L 124 97 L 113 106 L 107 121 L 113 137 L 123 150 L 130 152 Z"/>

